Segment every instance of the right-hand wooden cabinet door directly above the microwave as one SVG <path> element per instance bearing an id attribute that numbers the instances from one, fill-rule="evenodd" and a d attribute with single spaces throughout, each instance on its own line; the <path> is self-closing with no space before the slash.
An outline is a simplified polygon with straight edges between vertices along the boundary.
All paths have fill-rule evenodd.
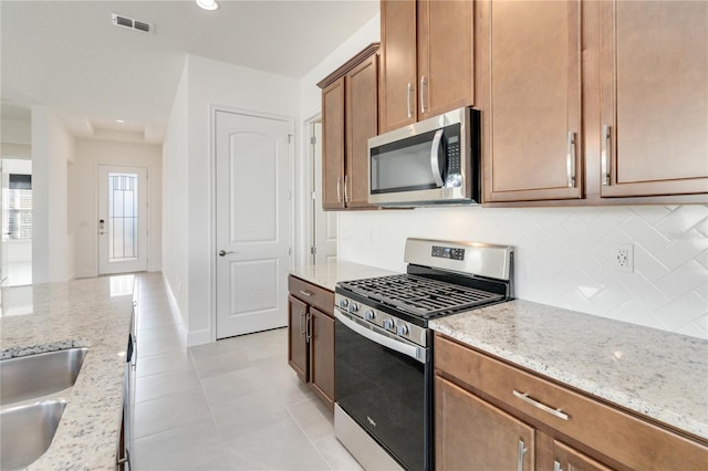
<path id="1" fill-rule="evenodd" d="M 418 1 L 418 121 L 475 104 L 473 4 Z"/>

